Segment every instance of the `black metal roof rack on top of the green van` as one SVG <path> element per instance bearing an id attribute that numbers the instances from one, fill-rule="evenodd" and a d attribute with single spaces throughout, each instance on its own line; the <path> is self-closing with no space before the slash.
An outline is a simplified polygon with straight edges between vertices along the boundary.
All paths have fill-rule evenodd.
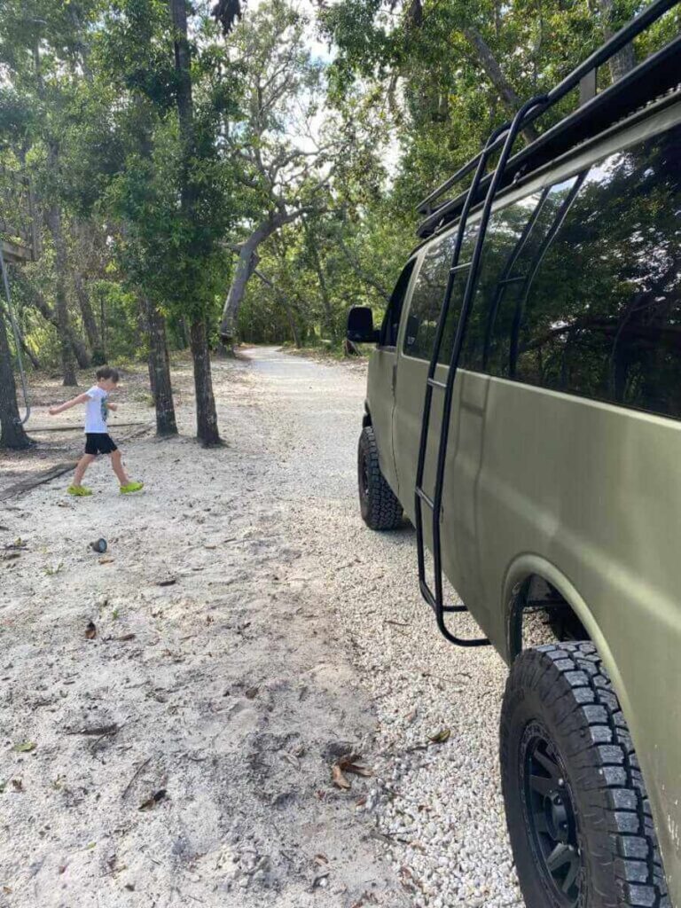
<path id="1" fill-rule="evenodd" d="M 666 44 L 656 54 L 625 74 L 617 82 L 597 94 L 597 71 L 607 63 L 626 44 L 645 31 L 662 15 L 681 0 L 655 0 L 613 35 L 605 44 L 579 64 L 562 82 L 546 95 L 546 103 L 528 111 L 524 125 L 545 114 L 549 107 L 556 104 L 566 94 L 579 88 L 580 106 L 568 114 L 546 133 L 526 148 L 513 155 L 504 168 L 498 192 L 518 180 L 520 176 L 538 170 L 543 164 L 555 160 L 560 154 L 568 152 L 590 138 L 604 132 L 619 120 L 637 111 L 641 106 L 675 88 L 681 82 L 681 35 Z M 501 148 L 506 133 L 499 132 L 496 139 L 486 145 L 487 155 Z M 469 190 L 460 192 L 455 198 L 443 198 L 449 190 L 472 173 L 485 154 L 485 149 L 472 157 L 468 163 L 450 176 L 448 180 L 430 192 L 419 202 L 417 212 L 425 215 L 419 224 L 418 235 L 426 239 L 438 232 L 445 225 L 456 221 L 469 196 Z M 482 201 L 489 188 L 492 173 L 483 177 L 476 188 L 475 198 L 469 200 L 469 206 Z"/>

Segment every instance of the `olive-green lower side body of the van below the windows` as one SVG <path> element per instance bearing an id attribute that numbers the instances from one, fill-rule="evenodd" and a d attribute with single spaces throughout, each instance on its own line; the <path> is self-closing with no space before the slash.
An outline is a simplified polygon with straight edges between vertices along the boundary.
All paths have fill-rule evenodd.
<path id="1" fill-rule="evenodd" d="M 399 360 L 395 450 L 410 516 L 423 407 L 415 386 L 422 390 L 426 370 L 423 360 Z M 437 420 L 433 429 L 435 439 Z M 444 572 L 507 661 L 508 601 L 519 581 L 536 571 L 574 607 L 620 697 L 679 900 L 671 887 L 681 880 L 673 819 L 681 803 L 681 423 L 462 370 L 449 438 Z M 424 521 L 430 544 L 426 509 Z"/>

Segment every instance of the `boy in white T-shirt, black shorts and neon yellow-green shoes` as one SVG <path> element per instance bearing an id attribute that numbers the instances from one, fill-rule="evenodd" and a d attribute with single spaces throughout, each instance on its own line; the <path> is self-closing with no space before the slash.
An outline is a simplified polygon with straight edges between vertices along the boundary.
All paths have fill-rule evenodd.
<path id="1" fill-rule="evenodd" d="M 50 416 L 56 416 L 57 413 L 63 413 L 64 410 L 70 410 L 76 404 L 84 403 L 85 405 L 85 453 L 78 461 L 75 468 L 74 483 L 67 489 L 69 495 L 92 495 L 92 489 L 86 489 L 82 485 L 85 470 L 90 466 L 98 454 L 111 454 L 111 466 L 114 473 L 121 483 L 121 492 L 138 492 L 143 488 L 143 482 L 131 482 L 123 469 L 121 452 L 116 447 L 114 439 L 109 435 L 106 427 L 106 420 L 109 416 L 109 410 L 118 410 L 118 404 L 109 403 L 108 397 L 110 391 L 114 390 L 118 384 L 118 370 L 112 369 L 111 366 L 103 366 L 96 372 L 97 383 L 84 394 L 79 394 L 73 400 L 67 400 L 66 403 L 59 407 L 50 407 Z"/>

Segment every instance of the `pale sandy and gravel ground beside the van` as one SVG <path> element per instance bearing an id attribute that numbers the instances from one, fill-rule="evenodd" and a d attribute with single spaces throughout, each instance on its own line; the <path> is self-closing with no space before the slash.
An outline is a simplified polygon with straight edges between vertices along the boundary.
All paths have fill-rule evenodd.
<path id="1" fill-rule="evenodd" d="M 137 440 L 141 496 L 99 468 L 2 513 L 0 906 L 522 905 L 506 669 L 439 638 L 413 530 L 361 522 L 364 368 L 246 356 L 214 366 L 227 447 Z"/>

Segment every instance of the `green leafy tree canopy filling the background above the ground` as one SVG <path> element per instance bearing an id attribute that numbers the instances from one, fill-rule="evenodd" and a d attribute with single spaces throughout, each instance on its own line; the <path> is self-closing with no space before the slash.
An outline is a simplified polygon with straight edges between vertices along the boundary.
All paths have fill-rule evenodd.
<path id="1" fill-rule="evenodd" d="M 42 251 L 9 266 L 25 358 L 72 384 L 148 357 L 173 432 L 168 350 L 189 349 L 218 442 L 210 351 L 339 345 L 351 305 L 390 298 L 419 198 L 643 5 L 0 0 L 0 164 L 31 178 Z"/>

